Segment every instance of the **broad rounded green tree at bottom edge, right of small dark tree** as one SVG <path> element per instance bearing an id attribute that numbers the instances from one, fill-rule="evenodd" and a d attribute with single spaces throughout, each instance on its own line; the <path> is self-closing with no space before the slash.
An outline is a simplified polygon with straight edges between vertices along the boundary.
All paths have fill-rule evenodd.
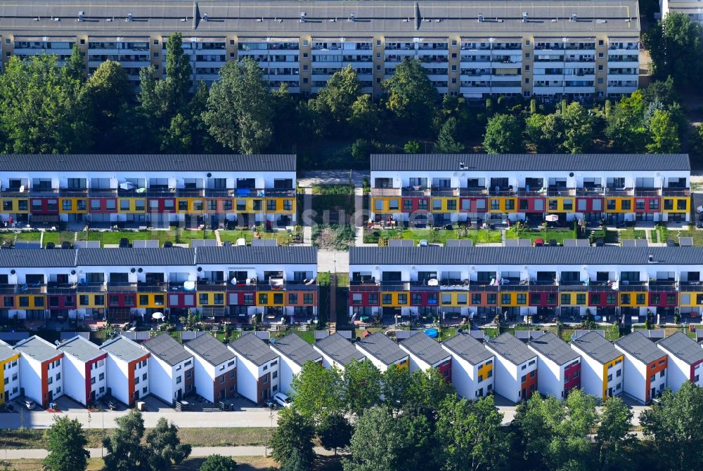
<path id="1" fill-rule="evenodd" d="M 344 471 L 431 470 L 439 464 L 434 430 L 425 416 L 394 417 L 380 406 L 359 418 L 350 450 L 352 458 L 344 460 Z"/>

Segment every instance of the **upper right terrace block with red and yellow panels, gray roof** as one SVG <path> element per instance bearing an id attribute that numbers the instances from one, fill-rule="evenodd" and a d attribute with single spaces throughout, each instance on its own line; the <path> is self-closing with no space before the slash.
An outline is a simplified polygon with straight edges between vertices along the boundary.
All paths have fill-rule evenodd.
<path id="1" fill-rule="evenodd" d="M 370 180 L 378 221 L 690 220 L 687 154 L 378 154 Z"/>

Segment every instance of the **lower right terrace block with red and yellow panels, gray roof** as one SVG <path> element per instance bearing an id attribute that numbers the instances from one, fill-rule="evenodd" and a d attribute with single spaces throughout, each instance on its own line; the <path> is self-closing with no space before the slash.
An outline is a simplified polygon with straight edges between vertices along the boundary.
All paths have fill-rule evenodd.
<path id="1" fill-rule="evenodd" d="M 702 271 L 697 247 L 352 247 L 349 315 L 389 324 L 498 314 L 580 321 L 590 313 L 626 324 L 648 312 L 697 317 Z"/>

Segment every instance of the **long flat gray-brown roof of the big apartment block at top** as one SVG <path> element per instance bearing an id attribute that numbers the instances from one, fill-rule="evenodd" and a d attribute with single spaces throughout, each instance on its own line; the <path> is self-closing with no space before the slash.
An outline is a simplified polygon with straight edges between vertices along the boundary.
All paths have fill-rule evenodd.
<path id="1" fill-rule="evenodd" d="M 458 5 L 452 5 L 455 3 Z M 339 38 L 340 35 L 354 37 L 382 32 L 412 40 L 418 32 L 423 37 L 446 38 L 450 33 L 489 37 L 491 34 L 525 31 L 556 34 L 561 38 L 567 32 L 594 34 L 631 31 L 638 34 L 640 31 L 637 4 L 624 0 L 595 0 L 576 4 L 565 0 L 501 1 L 497 4 L 482 1 L 448 4 L 446 1 L 420 0 L 415 4 L 407 0 L 316 0 L 305 2 L 305 22 L 299 21 L 302 9 L 298 1 L 199 0 L 198 13 L 194 15 L 191 0 L 143 0 L 129 6 L 121 1 L 93 0 L 80 4 L 85 12 L 83 22 L 75 21 L 76 5 L 66 0 L 23 0 L 5 6 L 1 16 L 3 23 L 6 23 L 4 28 L 25 34 L 89 32 L 91 35 L 112 34 L 112 37 L 178 31 L 184 36 L 197 34 L 200 37 L 237 32 L 240 37 L 245 34 L 258 34 L 259 37 L 312 34 Z M 529 13 L 531 21 L 522 22 L 523 11 Z M 133 22 L 124 21 L 128 12 L 134 15 Z M 207 21 L 202 19 L 205 13 L 209 15 Z M 351 13 L 356 15 L 356 21 L 346 20 Z M 478 13 L 483 13 L 486 21 L 477 22 Z M 572 13 L 578 14 L 578 22 L 567 19 Z M 628 16 L 632 20 L 626 23 Z M 41 19 L 34 22 L 33 18 L 37 17 Z M 51 20 L 53 17 L 62 17 L 63 20 L 54 22 Z M 557 17 L 559 20 L 552 22 Z M 109 29 L 105 18 L 115 18 Z M 338 20 L 330 21 L 335 18 Z M 599 22 L 597 19 L 607 21 Z"/>

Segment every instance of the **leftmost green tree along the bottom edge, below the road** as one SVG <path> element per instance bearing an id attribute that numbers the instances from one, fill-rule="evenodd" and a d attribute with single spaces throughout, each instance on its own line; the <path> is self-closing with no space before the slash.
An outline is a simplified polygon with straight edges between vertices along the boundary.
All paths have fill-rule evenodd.
<path id="1" fill-rule="evenodd" d="M 44 467 L 49 471 L 83 471 L 88 467 L 90 453 L 86 450 L 88 439 L 77 419 L 54 418 L 44 432 L 46 450 Z"/>

